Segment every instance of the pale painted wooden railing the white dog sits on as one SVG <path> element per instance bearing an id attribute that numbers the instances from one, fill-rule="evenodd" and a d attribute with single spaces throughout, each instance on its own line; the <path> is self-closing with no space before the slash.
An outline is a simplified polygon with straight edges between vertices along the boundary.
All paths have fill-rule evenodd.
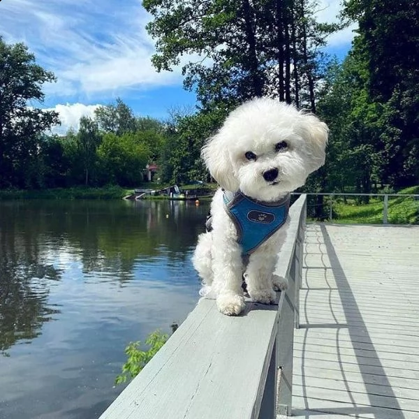
<path id="1" fill-rule="evenodd" d="M 306 196 L 291 205 L 278 304 L 228 317 L 202 299 L 100 419 L 278 419 L 291 414 Z M 162 302 L 170 304 L 170 301 Z"/>

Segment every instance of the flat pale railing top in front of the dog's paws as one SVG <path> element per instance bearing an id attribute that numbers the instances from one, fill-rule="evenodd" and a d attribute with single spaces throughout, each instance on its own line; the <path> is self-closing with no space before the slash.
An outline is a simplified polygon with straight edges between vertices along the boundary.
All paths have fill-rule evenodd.
<path id="1" fill-rule="evenodd" d="M 277 307 L 249 306 L 231 318 L 201 300 L 101 419 L 251 418 Z"/>

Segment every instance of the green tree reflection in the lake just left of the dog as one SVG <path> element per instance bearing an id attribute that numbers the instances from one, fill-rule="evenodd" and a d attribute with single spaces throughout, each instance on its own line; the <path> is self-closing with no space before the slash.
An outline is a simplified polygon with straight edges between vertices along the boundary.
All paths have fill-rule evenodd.
<path id="1" fill-rule="evenodd" d="M 115 272 L 120 280 L 132 279 L 133 265 L 141 259 L 164 256 L 184 261 L 204 230 L 207 214 L 207 206 L 182 201 L 82 205 L 67 228 L 69 243 L 80 246 L 86 272 Z"/>

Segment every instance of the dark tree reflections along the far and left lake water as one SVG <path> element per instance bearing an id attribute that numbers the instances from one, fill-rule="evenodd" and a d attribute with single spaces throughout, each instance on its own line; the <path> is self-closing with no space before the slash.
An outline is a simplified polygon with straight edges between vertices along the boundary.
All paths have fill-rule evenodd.
<path id="1" fill-rule="evenodd" d="M 85 277 L 129 281 L 141 260 L 184 263 L 206 213 L 179 201 L 0 203 L 0 351 L 38 336 L 59 312 L 48 295 L 66 268 L 60 258 L 80 260 Z"/>

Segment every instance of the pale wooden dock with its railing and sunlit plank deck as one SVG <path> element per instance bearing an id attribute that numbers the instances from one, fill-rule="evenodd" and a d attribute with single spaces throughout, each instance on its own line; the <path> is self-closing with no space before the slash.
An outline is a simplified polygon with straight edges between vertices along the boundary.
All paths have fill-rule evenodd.
<path id="1" fill-rule="evenodd" d="M 200 300 L 100 419 L 419 419 L 419 226 L 306 225 L 306 208 L 278 304 Z"/>

